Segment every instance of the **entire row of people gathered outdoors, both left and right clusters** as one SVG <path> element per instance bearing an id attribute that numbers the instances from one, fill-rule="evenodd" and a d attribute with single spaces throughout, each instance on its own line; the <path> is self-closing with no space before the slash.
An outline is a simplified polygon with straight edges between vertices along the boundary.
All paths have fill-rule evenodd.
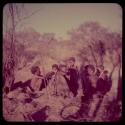
<path id="1" fill-rule="evenodd" d="M 111 88 L 111 81 L 108 71 L 104 66 L 95 68 L 93 65 L 86 65 L 79 71 L 75 65 L 75 58 L 70 57 L 66 64 L 53 64 L 52 71 L 45 76 L 41 75 L 39 66 L 31 68 L 32 78 L 26 82 L 14 83 L 11 91 L 17 87 L 22 87 L 30 92 L 47 91 L 49 95 L 66 97 L 76 97 L 81 84 L 83 95 L 81 96 L 82 104 L 90 104 L 95 97 L 99 98 L 98 106 L 91 113 L 92 117 L 96 114 L 97 109 L 103 100 L 104 95 Z M 85 107 L 81 105 L 79 114 L 84 112 Z M 89 109 L 91 111 L 91 109 Z M 89 111 L 88 111 L 89 114 Z"/>

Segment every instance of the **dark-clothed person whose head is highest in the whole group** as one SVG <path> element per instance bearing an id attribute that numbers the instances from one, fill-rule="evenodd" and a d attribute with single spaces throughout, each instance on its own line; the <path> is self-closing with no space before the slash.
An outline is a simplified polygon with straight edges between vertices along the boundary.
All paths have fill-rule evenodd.
<path id="1" fill-rule="evenodd" d="M 70 77 L 68 86 L 70 91 L 73 93 L 74 97 L 77 95 L 78 91 L 78 69 L 77 66 L 75 66 L 75 58 L 70 57 L 67 60 L 67 69 L 68 69 L 68 75 Z"/>

